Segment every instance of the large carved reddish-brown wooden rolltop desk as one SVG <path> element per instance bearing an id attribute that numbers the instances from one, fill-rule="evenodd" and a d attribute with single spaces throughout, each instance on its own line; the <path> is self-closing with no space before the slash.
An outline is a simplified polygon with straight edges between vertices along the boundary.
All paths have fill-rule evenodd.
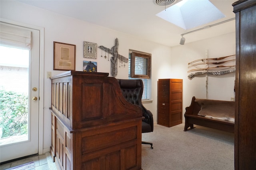
<path id="1" fill-rule="evenodd" d="M 142 111 L 108 73 L 52 81 L 52 158 L 62 170 L 141 170 Z"/>

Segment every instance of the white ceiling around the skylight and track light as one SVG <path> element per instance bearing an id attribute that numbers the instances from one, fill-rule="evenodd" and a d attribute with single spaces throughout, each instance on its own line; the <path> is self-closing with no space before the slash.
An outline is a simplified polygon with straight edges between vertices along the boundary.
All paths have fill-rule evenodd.
<path id="1" fill-rule="evenodd" d="M 20 0 L 38 8 L 171 47 L 180 45 L 180 34 L 234 18 L 232 4 L 236 1 L 210 0 L 226 17 L 185 30 L 156 16 L 165 7 L 157 6 L 154 0 Z M 184 35 L 185 44 L 231 32 L 235 32 L 235 20 Z"/>

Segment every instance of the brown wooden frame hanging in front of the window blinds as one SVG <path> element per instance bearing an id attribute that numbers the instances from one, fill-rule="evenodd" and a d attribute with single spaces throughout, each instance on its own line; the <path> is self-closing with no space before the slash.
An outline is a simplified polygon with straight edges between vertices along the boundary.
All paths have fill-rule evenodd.
<path id="1" fill-rule="evenodd" d="M 151 54 L 150 53 L 142 53 L 140 51 L 132 51 L 131 53 L 131 69 L 130 69 L 130 77 L 131 78 L 146 78 L 150 79 L 151 75 Z M 135 57 L 141 57 L 143 59 L 147 59 L 147 68 L 146 68 L 146 74 L 135 74 Z"/>

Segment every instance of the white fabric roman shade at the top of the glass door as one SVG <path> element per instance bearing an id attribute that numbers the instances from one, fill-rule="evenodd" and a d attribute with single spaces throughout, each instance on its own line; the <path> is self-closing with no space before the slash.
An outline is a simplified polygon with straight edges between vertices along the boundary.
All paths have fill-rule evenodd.
<path id="1" fill-rule="evenodd" d="M 30 49 L 31 31 L 15 25 L 0 23 L 0 43 Z"/>

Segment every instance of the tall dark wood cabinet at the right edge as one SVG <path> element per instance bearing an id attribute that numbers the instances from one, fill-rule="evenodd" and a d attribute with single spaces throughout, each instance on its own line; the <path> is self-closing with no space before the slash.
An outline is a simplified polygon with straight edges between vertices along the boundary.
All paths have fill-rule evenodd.
<path id="1" fill-rule="evenodd" d="M 233 4 L 236 14 L 235 169 L 256 169 L 256 0 Z"/>

